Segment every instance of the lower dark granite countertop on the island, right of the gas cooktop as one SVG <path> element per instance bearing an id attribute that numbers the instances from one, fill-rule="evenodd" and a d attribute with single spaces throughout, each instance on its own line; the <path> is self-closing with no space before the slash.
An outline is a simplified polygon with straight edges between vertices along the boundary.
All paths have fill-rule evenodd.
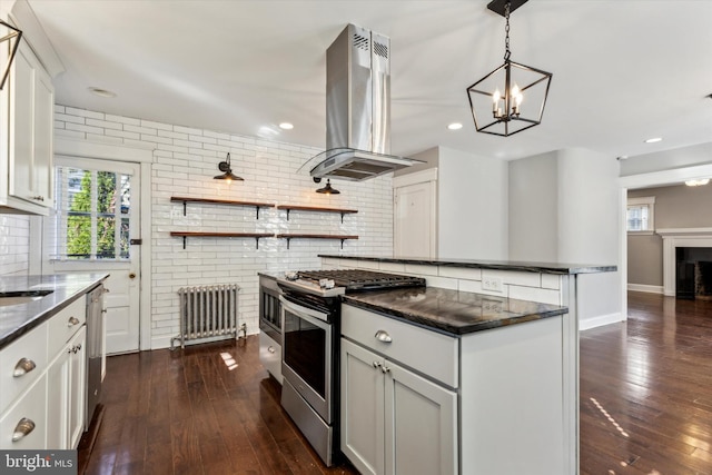
<path id="1" fill-rule="evenodd" d="M 566 307 L 436 287 L 343 296 L 346 304 L 461 336 L 568 313 Z"/>

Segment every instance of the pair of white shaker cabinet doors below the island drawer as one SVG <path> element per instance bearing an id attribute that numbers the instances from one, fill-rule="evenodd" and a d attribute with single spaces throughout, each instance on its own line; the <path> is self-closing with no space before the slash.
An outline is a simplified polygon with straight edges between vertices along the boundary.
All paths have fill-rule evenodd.
<path id="1" fill-rule="evenodd" d="M 342 452 L 362 474 L 457 473 L 457 394 L 342 338 Z"/>

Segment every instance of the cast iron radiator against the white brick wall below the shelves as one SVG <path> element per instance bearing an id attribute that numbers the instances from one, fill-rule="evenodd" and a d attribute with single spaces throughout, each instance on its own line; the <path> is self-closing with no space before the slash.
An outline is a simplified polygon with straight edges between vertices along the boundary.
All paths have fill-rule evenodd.
<path id="1" fill-rule="evenodd" d="M 180 288 L 180 335 L 170 339 L 170 349 L 176 349 L 176 340 L 185 348 L 189 340 L 247 335 L 246 325 L 237 324 L 239 289 L 237 284 Z"/>

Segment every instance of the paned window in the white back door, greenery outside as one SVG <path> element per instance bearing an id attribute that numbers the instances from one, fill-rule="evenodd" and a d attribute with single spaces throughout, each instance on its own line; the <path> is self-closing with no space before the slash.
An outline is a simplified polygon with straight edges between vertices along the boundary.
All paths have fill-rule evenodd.
<path id="1" fill-rule="evenodd" d="M 60 166 L 56 182 L 55 258 L 128 259 L 130 175 Z"/>

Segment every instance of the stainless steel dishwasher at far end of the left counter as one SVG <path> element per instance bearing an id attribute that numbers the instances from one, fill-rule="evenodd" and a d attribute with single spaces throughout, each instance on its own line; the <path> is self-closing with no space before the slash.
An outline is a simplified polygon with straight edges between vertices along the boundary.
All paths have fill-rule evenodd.
<path id="1" fill-rule="evenodd" d="M 87 294 L 87 410 L 85 427 L 89 428 L 101 397 L 101 362 L 105 354 L 103 285 Z"/>

